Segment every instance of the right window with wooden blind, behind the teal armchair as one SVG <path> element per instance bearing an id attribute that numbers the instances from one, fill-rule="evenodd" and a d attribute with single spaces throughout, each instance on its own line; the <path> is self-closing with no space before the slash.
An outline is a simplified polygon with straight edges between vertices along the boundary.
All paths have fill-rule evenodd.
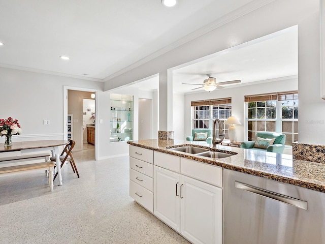
<path id="1" fill-rule="evenodd" d="M 245 96 L 247 139 L 255 140 L 258 131 L 286 135 L 285 145 L 298 141 L 298 92 Z"/>

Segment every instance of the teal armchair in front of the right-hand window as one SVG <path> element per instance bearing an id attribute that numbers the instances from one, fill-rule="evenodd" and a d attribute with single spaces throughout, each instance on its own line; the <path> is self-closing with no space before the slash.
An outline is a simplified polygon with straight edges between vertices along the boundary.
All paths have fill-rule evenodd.
<path id="1" fill-rule="evenodd" d="M 280 133 L 274 132 L 257 132 L 256 138 L 267 138 L 267 139 L 275 139 L 273 145 L 269 145 L 266 149 L 262 148 L 255 148 L 253 147 L 255 141 L 243 141 L 240 145 L 241 148 L 251 148 L 255 150 L 262 150 L 262 151 L 272 151 L 273 153 L 282 154 L 284 150 L 284 143 L 285 143 L 285 135 Z"/>

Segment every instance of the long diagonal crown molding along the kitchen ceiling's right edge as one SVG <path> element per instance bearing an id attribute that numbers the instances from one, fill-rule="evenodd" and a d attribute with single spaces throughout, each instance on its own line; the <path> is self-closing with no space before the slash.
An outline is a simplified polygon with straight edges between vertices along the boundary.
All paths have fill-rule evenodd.
<path id="1" fill-rule="evenodd" d="M 140 59 L 138 62 L 136 62 L 136 63 L 134 63 L 132 65 L 129 65 L 129 66 L 125 67 L 124 69 L 122 69 L 122 70 L 120 70 L 118 72 L 115 72 L 112 75 L 107 76 L 103 80 L 108 81 L 108 80 L 113 79 L 113 78 L 115 78 L 115 77 L 117 77 L 117 76 L 119 76 L 119 75 L 121 75 L 123 73 L 126 73 L 126 72 L 128 72 L 130 70 L 133 70 L 133 69 L 135 69 L 135 68 L 149 62 L 150 60 L 158 57 L 158 56 L 161 56 L 161 55 L 163 55 L 163 54 L 165 54 L 165 53 L 167 53 L 167 52 L 169 52 L 169 51 L 171 51 L 171 50 L 173 50 L 173 49 L 175 49 L 175 48 L 177 48 L 177 47 L 179 47 L 179 46 L 181 46 L 181 45 L 183 45 L 183 44 L 185 44 L 187 42 L 190 42 L 190 41 L 192 41 L 192 40 L 194 40 L 194 39 L 196 39 L 196 38 L 198 38 L 200 36 L 203 36 L 204 34 L 207 34 L 207 33 L 211 32 L 211 31 L 213 31 L 216 28 L 219 28 L 220 26 L 222 26 L 222 25 L 224 25 L 226 23 L 229 23 L 229 22 L 231 22 L 231 21 L 233 21 L 235 19 L 238 19 L 238 18 L 240 18 L 240 17 L 242 17 L 242 16 L 244 16 L 244 15 L 246 15 L 246 14 L 248 14 L 248 13 L 250 13 L 250 12 L 256 10 L 256 9 L 259 9 L 259 8 L 265 6 L 265 5 L 268 5 L 268 4 L 270 4 L 270 3 L 274 2 L 274 1 L 275 0 L 262 0 L 262 1 L 254 0 L 254 1 L 244 5 L 243 7 L 239 8 L 239 9 L 236 9 L 236 10 L 232 11 L 231 13 L 222 16 L 221 18 L 213 21 L 212 23 L 205 25 L 204 27 L 198 29 L 197 31 L 194 31 L 191 34 L 189 34 L 189 35 L 187 35 L 187 36 L 173 42 L 172 44 L 170 44 L 170 45 L 168 45 L 168 46 L 166 46 L 164 48 L 159 49 L 158 51 L 146 56 L 145 58 Z"/>

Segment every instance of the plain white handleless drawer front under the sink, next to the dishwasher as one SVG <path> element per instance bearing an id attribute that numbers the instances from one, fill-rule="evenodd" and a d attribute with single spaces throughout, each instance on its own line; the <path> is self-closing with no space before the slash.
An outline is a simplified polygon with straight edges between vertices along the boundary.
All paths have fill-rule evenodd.
<path id="1" fill-rule="evenodd" d="M 222 168 L 189 159 L 181 159 L 182 174 L 222 187 Z"/>

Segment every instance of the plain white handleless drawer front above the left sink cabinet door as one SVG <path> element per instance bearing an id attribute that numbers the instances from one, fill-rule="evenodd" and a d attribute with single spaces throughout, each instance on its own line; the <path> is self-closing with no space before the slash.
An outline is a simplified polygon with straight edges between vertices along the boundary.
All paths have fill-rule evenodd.
<path id="1" fill-rule="evenodd" d="M 178 156 L 160 153 L 154 151 L 154 165 L 160 166 L 161 168 L 169 169 L 175 172 L 181 172 L 181 158 Z"/>

